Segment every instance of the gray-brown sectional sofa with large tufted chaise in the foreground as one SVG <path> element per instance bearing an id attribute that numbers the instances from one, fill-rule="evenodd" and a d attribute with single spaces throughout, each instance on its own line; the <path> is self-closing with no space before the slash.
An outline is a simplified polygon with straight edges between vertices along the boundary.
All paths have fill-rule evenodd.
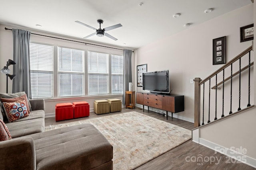
<path id="1" fill-rule="evenodd" d="M 29 101 L 28 117 L 6 123 L 12 140 L 0 141 L 1 170 L 113 169 L 113 147 L 98 129 L 82 124 L 44 131 L 44 100 Z"/>

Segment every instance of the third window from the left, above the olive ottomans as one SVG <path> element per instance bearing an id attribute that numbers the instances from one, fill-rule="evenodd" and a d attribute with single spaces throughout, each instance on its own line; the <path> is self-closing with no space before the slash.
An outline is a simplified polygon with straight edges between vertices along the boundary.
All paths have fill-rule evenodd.
<path id="1" fill-rule="evenodd" d="M 88 95 L 109 94 L 109 55 L 88 51 Z"/>

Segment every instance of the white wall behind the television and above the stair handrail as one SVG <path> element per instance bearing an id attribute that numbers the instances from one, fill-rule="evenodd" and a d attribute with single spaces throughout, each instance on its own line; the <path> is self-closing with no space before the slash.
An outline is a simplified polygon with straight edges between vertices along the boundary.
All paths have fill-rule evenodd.
<path id="1" fill-rule="evenodd" d="M 182 119 L 194 122 L 194 84 L 190 84 L 190 79 L 204 79 L 222 66 L 212 65 L 212 39 L 227 36 L 227 62 L 252 45 L 251 41 L 240 43 L 240 27 L 253 23 L 253 8 L 250 4 L 192 25 L 135 51 L 136 65 L 148 64 L 148 71 L 169 69 L 172 94 L 185 96 L 185 111 L 176 113 Z M 137 87 L 136 91 L 142 88 Z"/>

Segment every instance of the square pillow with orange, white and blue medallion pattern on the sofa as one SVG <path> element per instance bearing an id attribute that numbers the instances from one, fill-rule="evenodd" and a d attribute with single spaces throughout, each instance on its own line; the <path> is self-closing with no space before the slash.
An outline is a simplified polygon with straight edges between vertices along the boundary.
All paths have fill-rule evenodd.
<path id="1" fill-rule="evenodd" d="M 24 99 L 16 102 L 3 102 L 4 112 L 9 122 L 28 116 L 28 109 Z"/>

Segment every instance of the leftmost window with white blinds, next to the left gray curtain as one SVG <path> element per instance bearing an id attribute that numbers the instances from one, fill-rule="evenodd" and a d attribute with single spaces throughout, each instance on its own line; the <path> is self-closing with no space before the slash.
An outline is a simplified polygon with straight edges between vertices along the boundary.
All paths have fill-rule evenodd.
<path id="1" fill-rule="evenodd" d="M 32 98 L 53 98 L 53 45 L 30 43 Z"/>

